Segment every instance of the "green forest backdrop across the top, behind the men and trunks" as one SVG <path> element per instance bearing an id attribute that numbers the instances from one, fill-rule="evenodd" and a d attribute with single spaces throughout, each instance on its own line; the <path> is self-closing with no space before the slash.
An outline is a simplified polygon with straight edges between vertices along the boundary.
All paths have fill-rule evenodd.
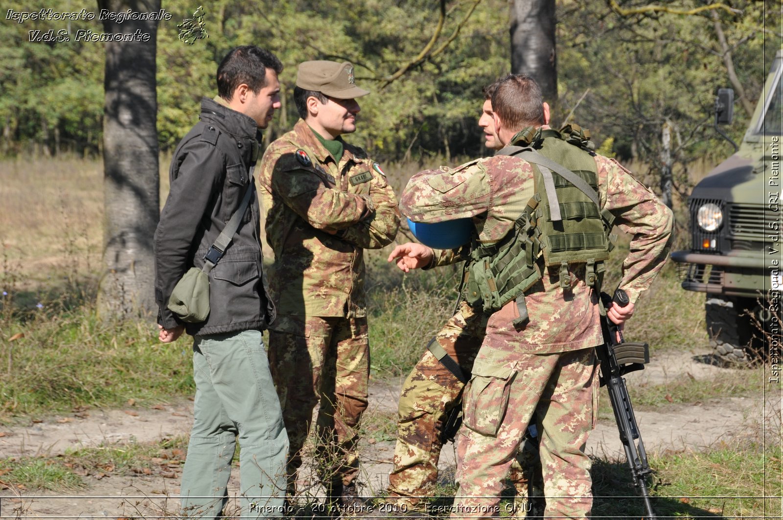
<path id="1" fill-rule="evenodd" d="M 507 0 L 447 2 L 434 49 L 416 62 L 438 26 L 438 2 L 323 0 L 234 2 L 204 6 L 208 38 L 187 45 L 177 24 L 197 2 L 171 0 L 157 34 L 157 130 L 161 151 L 173 150 L 197 121 L 200 96 L 214 96 L 215 69 L 235 45 L 275 52 L 283 108 L 265 132 L 271 142 L 297 120 L 291 100 L 296 67 L 304 60 L 349 60 L 362 99 L 353 143 L 381 162 L 485 153 L 476 125 L 482 87 L 511 71 Z M 34 11 L 49 2 L 4 2 Z M 711 127 L 717 87 L 737 92 L 742 136 L 770 60 L 781 40 L 781 2 L 734 0 L 717 9 L 705 2 L 557 2 L 557 124 L 570 116 L 593 132 L 597 146 L 622 160 L 648 163 L 655 172 L 664 125 L 673 129 L 675 187 L 686 193 L 693 161 L 724 157 L 731 145 Z M 95 10 L 92 2 L 58 2 L 57 9 Z M 626 13 L 637 9 L 639 13 Z M 625 10 L 625 11 L 623 11 Z M 668 10 L 668 11 L 667 11 Z M 684 14 L 688 11 L 694 14 Z M 624 14 L 622 14 L 624 13 Z M 5 16 L 5 13 L 3 13 Z M 60 27 L 62 26 L 62 27 Z M 29 31 L 101 32 L 100 22 L 3 20 L 0 42 L 2 155 L 63 153 L 99 156 L 103 137 L 103 44 L 30 42 Z M 447 42 L 451 36 L 453 41 Z M 774 43 L 773 43 L 774 42 Z M 439 50 L 441 45 L 446 46 Z M 414 63 L 399 77 L 392 74 Z"/>

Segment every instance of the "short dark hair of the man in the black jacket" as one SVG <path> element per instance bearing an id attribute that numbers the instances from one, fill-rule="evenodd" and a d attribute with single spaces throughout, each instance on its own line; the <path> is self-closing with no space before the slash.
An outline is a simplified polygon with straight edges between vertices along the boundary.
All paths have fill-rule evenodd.
<path id="1" fill-rule="evenodd" d="M 258 93 L 266 86 L 267 67 L 277 74 L 283 72 L 283 63 L 272 52 L 255 45 L 234 47 L 218 66 L 218 96 L 231 101 L 243 83 Z"/>

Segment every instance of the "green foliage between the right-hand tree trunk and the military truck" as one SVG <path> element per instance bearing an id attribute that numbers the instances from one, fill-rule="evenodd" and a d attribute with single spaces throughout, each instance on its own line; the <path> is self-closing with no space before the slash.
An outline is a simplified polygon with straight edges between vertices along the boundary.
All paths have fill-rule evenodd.
<path id="1" fill-rule="evenodd" d="M 649 2 L 619 3 L 627 9 Z M 676 4 L 681 9 L 703 5 L 696 0 Z M 767 39 L 765 32 L 766 27 L 779 30 L 780 10 L 764 4 L 732 2 L 740 14 L 716 12 L 752 105 L 766 78 L 765 59 L 774 56 L 781 42 L 780 35 L 773 32 Z M 687 195 L 692 162 L 706 156 L 714 164 L 732 150 L 713 128 L 715 89 L 733 86 L 713 12 L 620 16 L 605 2 L 561 0 L 558 5 L 558 111 L 574 110 L 573 120 L 590 128 L 596 142 L 614 138 L 612 148 L 621 159 L 648 161 L 651 179 L 660 175 L 663 125 L 671 125 L 674 187 Z M 739 102 L 734 114 L 728 132 L 739 141 L 750 114 Z"/>

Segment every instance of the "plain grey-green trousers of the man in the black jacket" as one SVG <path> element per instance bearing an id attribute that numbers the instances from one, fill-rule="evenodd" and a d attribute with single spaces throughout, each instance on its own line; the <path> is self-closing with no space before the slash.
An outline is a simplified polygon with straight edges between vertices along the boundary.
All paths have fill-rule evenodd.
<path id="1" fill-rule="evenodd" d="M 196 399 L 182 472 L 182 515 L 219 518 L 236 439 L 240 442 L 240 515 L 283 516 L 288 436 L 260 330 L 197 336 Z"/>

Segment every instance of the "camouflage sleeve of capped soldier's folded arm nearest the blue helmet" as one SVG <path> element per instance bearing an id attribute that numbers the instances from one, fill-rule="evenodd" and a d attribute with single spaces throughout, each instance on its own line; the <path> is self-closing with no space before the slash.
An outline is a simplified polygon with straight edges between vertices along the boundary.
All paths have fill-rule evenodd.
<path id="1" fill-rule="evenodd" d="M 399 229 L 399 211 L 397 197 L 384 176 L 373 173 L 372 179 L 351 186 L 349 191 L 369 197 L 375 212 L 362 222 L 346 228 L 338 236 L 363 249 L 380 249 L 391 244 Z"/>

